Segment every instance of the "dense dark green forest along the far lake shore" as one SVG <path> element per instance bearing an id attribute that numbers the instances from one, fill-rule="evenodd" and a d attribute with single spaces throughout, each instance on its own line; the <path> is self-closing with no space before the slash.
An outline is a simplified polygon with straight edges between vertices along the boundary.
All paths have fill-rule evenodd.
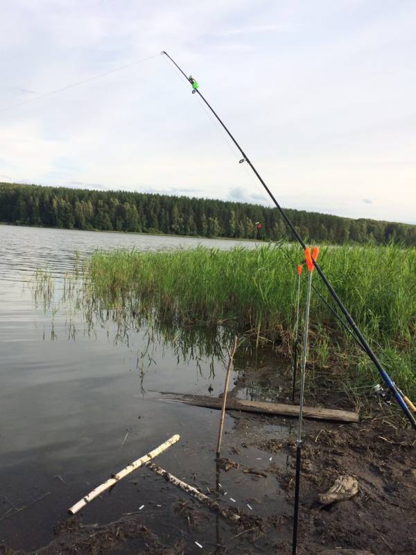
<path id="1" fill-rule="evenodd" d="M 416 246 L 416 225 L 349 219 L 288 208 L 309 241 Z M 0 222 L 78 230 L 277 240 L 288 230 L 275 208 L 208 198 L 0 183 Z M 257 222 L 261 224 L 258 229 Z M 260 226 L 259 226 L 260 227 Z"/>

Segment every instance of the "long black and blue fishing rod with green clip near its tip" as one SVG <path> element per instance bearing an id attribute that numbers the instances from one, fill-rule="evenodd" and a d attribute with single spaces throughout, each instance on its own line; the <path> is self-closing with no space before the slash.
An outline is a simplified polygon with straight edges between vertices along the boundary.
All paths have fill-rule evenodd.
<path id="1" fill-rule="evenodd" d="M 171 60 L 171 62 L 173 63 L 173 65 L 175 65 L 175 67 L 177 67 L 177 69 L 180 71 L 180 73 L 184 76 L 185 79 L 187 79 L 187 81 L 189 83 L 191 83 L 192 86 L 192 94 L 199 94 L 200 99 L 202 99 L 202 101 L 207 105 L 207 107 L 209 108 L 209 110 L 214 114 L 214 116 L 216 117 L 216 119 L 219 121 L 220 125 L 223 127 L 223 129 L 225 130 L 225 132 L 227 133 L 227 135 L 229 136 L 229 138 L 232 140 L 232 142 L 234 143 L 234 145 L 236 146 L 236 148 L 238 148 L 239 152 L 242 155 L 242 158 L 240 160 L 240 164 L 243 164 L 243 162 L 247 162 L 247 164 L 250 166 L 250 168 L 252 169 L 254 175 L 257 177 L 257 179 L 259 180 L 259 182 L 261 182 L 261 185 L 263 185 L 263 188 L 265 189 L 265 191 L 267 192 L 268 196 L 270 197 L 270 199 L 272 200 L 272 202 L 275 204 L 275 207 L 277 207 L 277 210 L 279 210 L 282 218 L 284 219 L 286 225 L 288 226 L 288 228 L 291 230 L 293 237 L 295 237 L 295 239 L 297 240 L 297 242 L 300 244 L 300 246 L 302 246 L 302 249 L 305 250 L 306 248 L 306 244 L 304 243 L 302 237 L 300 237 L 299 232 L 297 232 L 297 229 L 295 228 L 295 225 L 293 225 L 291 219 L 289 219 L 288 215 L 286 214 L 286 212 L 283 210 L 283 208 L 279 205 L 279 203 L 277 202 L 277 199 L 275 198 L 275 196 L 272 194 L 272 191 L 270 191 L 270 189 L 268 188 L 268 186 L 266 185 L 266 182 L 263 180 L 263 178 L 261 178 L 261 175 L 259 174 L 259 172 L 257 171 L 257 169 L 254 167 L 254 164 L 252 164 L 252 162 L 250 161 L 250 158 L 248 157 L 248 155 L 245 154 L 245 152 L 243 151 L 243 148 L 241 148 L 241 146 L 239 145 L 238 142 L 236 142 L 236 139 L 234 139 L 234 136 L 232 135 L 232 133 L 230 133 L 230 131 L 228 130 L 227 126 L 225 126 L 225 123 L 223 122 L 222 119 L 220 119 L 220 117 L 218 116 L 218 114 L 216 113 L 216 111 L 214 110 L 214 108 L 211 107 L 211 105 L 209 104 L 209 102 L 205 99 L 205 96 L 202 95 L 202 93 L 199 91 L 199 85 L 197 83 L 197 81 L 192 77 L 192 76 L 187 76 L 187 74 L 184 73 L 184 71 L 180 68 L 179 65 L 177 65 L 177 63 L 175 62 L 175 60 L 173 60 L 173 58 L 171 58 L 171 56 L 169 56 L 169 54 L 166 51 L 162 51 L 161 52 L 162 55 L 166 56 L 169 60 Z M 406 417 L 408 418 L 410 424 L 412 425 L 413 429 L 416 429 L 416 419 L 413 416 L 413 413 L 410 411 L 410 409 L 408 408 L 406 402 L 404 401 L 403 397 L 401 396 L 401 394 L 399 393 L 399 389 L 397 388 L 395 382 L 392 381 L 392 379 L 390 378 L 390 376 L 388 375 L 388 373 L 385 371 L 385 369 L 383 368 L 383 366 L 381 365 L 381 362 L 379 361 L 379 359 L 376 357 L 376 354 L 374 353 L 374 351 L 372 350 L 372 348 L 370 347 L 369 343 L 367 342 L 367 339 L 365 339 L 365 336 L 363 336 L 361 330 L 359 330 L 358 326 L 356 325 L 356 323 L 354 322 L 354 319 L 352 318 L 351 314 L 349 314 L 349 311 L 347 310 L 347 308 L 345 307 L 345 305 L 343 304 L 343 301 L 340 300 L 340 298 L 338 297 L 338 294 L 336 293 L 335 289 L 333 289 L 331 283 L 329 282 L 327 276 L 324 274 L 324 272 L 322 271 L 322 269 L 320 268 L 318 262 L 316 262 L 315 260 L 313 260 L 313 265 L 316 268 L 316 271 L 318 272 L 318 274 L 320 275 L 320 278 L 322 279 L 322 281 L 324 282 L 325 286 L 327 287 L 329 293 L 331 294 L 331 296 L 333 297 L 333 300 L 335 300 L 336 304 L 338 305 L 338 307 L 340 308 L 341 312 L 343 312 L 345 318 L 347 319 L 347 322 L 349 323 L 349 325 L 352 327 L 352 330 L 354 330 L 354 333 L 356 334 L 358 340 L 360 341 L 361 345 L 363 346 L 363 349 L 365 350 L 365 352 L 367 353 L 367 356 L 370 358 L 370 360 L 373 362 L 374 366 L 376 366 L 377 370 L 379 370 L 379 374 L 381 375 L 381 378 L 383 379 L 383 381 L 385 382 L 386 386 L 388 387 L 388 389 L 390 390 L 390 392 L 392 393 L 392 395 L 394 395 L 397 403 L 399 404 L 399 406 L 401 407 L 401 410 L 405 413 Z"/>

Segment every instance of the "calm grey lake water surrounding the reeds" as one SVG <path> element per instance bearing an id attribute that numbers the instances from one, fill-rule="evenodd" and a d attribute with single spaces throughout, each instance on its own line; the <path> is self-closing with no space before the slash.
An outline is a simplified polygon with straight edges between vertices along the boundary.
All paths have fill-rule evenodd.
<path id="1" fill-rule="evenodd" d="M 75 251 L 83 258 L 96 248 L 242 243 L 0 225 L 0 543 L 14 549 L 49 543 L 69 506 L 175 433 L 182 436 L 180 444 L 159 457 L 174 474 L 206 474 L 199 454 L 210 445 L 210 463 L 214 456 L 218 411 L 166 402 L 156 392 L 218 395 L 225 345 L 211 350 L 209 341 L 202 338 L 198 346 L 194 337 L 190 352 L 189 342 L 174 333 L 132 327 L 120 334 L 111 318 L 89 327 L 71 303 L 59 302 Z M 35 269 L 46 264 L 56 279 L 49 307 L 36 305 L 31 287 Z M 103 496 L 89 505 L 84 522 L 116 520 L 146 499 L 169 511 L 160 478 L 135 474 L 139 493 L 126 480 L 111 502 Z"/>

